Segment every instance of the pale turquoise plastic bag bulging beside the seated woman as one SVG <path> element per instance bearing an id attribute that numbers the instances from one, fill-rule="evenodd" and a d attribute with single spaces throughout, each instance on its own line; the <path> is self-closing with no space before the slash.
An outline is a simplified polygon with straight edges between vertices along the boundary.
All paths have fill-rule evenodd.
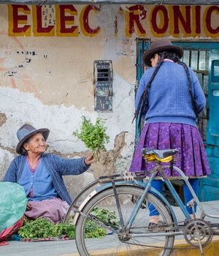
<path id="1" fill-rule="evenodd" d="M 12 227 L 26 211 L 27 198 L 22 186 L 12 182 L 0 182 L 0 233 Z"/>

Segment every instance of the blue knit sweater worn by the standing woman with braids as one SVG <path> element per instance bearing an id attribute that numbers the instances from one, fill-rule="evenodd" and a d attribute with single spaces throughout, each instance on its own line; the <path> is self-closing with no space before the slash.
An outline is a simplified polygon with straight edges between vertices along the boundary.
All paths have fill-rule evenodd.
<path id="1" fill-rule="evenodd" d="M 142 75 L 136 96 L 136 108 L 145 91 L 155 67 L 147 69 Z M 192 93 L 199 110 L 204 109 L 206 99 L 198 78 L 189 68 L 192 80 Z M 185 69 L 174 62 L 164 62 L 158 70 L 147 93 L 147 123 L 180 123 L 196 126 L 196 114 L 188 92 L 188 78 Z"/>

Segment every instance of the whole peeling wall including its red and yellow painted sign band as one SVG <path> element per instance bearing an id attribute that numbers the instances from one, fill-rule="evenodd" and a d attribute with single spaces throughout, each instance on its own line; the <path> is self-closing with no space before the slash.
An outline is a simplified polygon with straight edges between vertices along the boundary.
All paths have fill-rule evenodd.
<path id="1" fill-rule="evenodd" d="M 0 180 L 15 157 L 16 132 L 26 122 L 50 129 L 49 152 L 63 157 L 87 154 L 88 149 L 72 136 L 82 116 L 92 121 L 98 116 L 104 118 L 110 143 L 107 152 L 101 155 L 101 162 L 93 164 L 88 174 L 65 178 L 72 197 L 81 184 L 84 186 L 93 177 L 128 170 L 135 138 L 135 127 L 131 124 L 137 76 L 135 38 L 210 40 L 219 37 L 215 27 L 217 6 L 96 4 L 95 11 L 91 10 L 84 19 L 85 7 L 74 4 L 74 10 L 69 10 L 74 19 L 65 25 L 71 28 L 74 23 L 77 28 L 73 35 L 58 31 L 61 28 L 60 17 L 55 14 L 58 6 L 26 6 L 26 10 L 20 7 L 17 20 L 13 20 L 12 5 L 0 4 Z M 49 15 L 53 26 L 44 35 L 39 33 L 36 18 L 39 8 L 42 8 L 41 31 L 42 26 L 48 26 Z M 183 15 L 193 16 L 189 17 L 190 22 L 181 24 L 174 18 L 174 12 L 181 23 Z M 100 29 L 96 34 L 89 34 L 85 23 L 93 31 Z M 28 26 L 28 29 L 19 34 L 16 26 Z M 110 113 L 94 111 L 95 60 L 112 61 L 113 110 Z M 80 187 L 73 186 L 78 181 Z"/>

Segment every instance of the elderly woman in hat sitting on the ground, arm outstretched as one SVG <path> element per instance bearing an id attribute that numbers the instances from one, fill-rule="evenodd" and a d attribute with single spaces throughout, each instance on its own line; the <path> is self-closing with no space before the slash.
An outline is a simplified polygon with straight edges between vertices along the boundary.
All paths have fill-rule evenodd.
<path id="1" fill-rule="evenodd" d="M 72 202 L 62 176 L 84 173 L 93 163 L 93 155 L 80 159 L 64 159 L 45 154 L 49 129 L 35 129 L 24 124 L 18 129 L 20 156 L 13 159 L 3 181 L 23 186 L 28 204 L 25 215 L 30 219 L 45 217 L 58 223 L 64 219 Z"/>

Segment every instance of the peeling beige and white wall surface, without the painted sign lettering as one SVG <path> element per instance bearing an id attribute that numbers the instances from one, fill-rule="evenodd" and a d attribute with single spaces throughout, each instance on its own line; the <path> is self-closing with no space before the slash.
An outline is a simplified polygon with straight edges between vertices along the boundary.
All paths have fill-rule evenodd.
<path id="1" fill-rule="evenodd" d="M 49 152 L 84 156 L 88 149 L 72 136 L 82 116 L 104 118 L 110 143 L 88 174 L 65 178 L 72 197 L 93 177 L 128 170 L 134 150 L 136 43 L 115 36 L 115 8 L 103 7 L 104 32 L 96 37 L 10 37 L 8 7 L 0 5 L 0 180 L 15 157 L 16 132 L 26 122 L 50 129 Z M 112 60 L 112 113 L 93 110 L 94 60 Z"/>

